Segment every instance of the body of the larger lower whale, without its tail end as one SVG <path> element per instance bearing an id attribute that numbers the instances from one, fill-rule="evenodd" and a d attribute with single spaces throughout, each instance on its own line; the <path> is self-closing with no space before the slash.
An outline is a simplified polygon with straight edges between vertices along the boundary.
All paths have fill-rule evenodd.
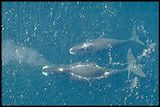
<path id="1" fill-rule="evenodd" d="M 68 73 L 74 77 L 91 79 L 106 75 L 109 72 L 95 63 L 75 63 L 65 66 L 45 66 L 43 67 L 43 74 L 57 74 L 57 73 Z"/>

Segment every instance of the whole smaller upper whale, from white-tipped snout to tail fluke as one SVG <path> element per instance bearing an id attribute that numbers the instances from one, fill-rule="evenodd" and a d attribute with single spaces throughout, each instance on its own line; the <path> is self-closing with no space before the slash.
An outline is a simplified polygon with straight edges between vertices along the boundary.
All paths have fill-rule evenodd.
<path id="1" fill-rule="evenodd" d="M 100 50 L 108 49 L 111 47 L 115 47 L 128 42 L 135 42 L 140 45 L 144 45 L 144 43 L 139 40 L 139 37 L 136 34 L 136 26 L 133 25 L 132 28 L 132 37 L 129 40 L 117 40 L 112 38 L 97 38 L 94 40 L 88 40 L 84 43 L 80 43 L 78 45 L 73 46 L 69 49 L 70 54 L 85 54 L 85 53 L 94 53 Z"/>

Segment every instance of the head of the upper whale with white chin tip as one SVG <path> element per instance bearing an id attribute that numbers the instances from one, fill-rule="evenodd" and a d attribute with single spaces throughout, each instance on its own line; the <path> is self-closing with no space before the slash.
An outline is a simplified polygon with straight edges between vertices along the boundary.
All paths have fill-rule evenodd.
<path id="1" fill-rule="evenodd" d="M 70 48 L 70 50 L 69 50 L 70 54 L 74 54 L 74 55 L 90 53 L 92 51 L 94 51 L 94 47 L 93 47 L 93 44 L 89 43 L 89 42 L 78 44 L 78 45 Z"/>

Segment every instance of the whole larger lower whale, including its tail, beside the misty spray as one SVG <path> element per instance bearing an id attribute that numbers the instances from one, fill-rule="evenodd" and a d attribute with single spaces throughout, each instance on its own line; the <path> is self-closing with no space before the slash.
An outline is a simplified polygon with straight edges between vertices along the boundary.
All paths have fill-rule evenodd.
<path id="1" fill-rule="evenodd" d="M 46 65 L 42 68 L 42 73 L 46 76 L 51 74 L 70 74 L 73 77 L 83 80 L 101 79 L 123 71 L 132 72 L 140 77 L 146 77 L 142 69 L 136 64 L 136 60 L 131 49 L 127 53 L 128 67 L 125 69 L 112 69 L 100 67 L 95 63 L 75 63 L 71 65 Z"/>

